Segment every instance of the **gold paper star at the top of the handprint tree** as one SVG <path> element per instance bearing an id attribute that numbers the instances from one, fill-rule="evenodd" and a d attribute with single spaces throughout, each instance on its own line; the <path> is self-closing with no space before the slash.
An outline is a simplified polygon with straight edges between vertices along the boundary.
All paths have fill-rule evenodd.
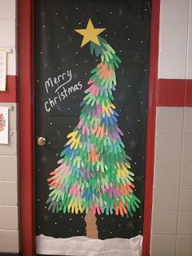
<path id="1" fill-rule="evenodd" d="M 86 29 L 75 29 L 77 33 L 83 36 L 83 41 L 81 42 L 81 47 L 85 46 L 86 43 L 92 41 L 100 46 L 98 41 L 99 33 L 102 33 L 105 29 L 94 29 L 92 21 L 89 19 Z"/>

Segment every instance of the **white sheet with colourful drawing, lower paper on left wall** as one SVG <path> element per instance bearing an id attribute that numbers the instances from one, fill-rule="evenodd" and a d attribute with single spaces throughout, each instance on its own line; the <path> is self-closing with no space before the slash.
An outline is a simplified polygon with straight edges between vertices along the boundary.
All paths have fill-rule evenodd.
<path id="1" fill-rule="evenodd" d="M 0 107 L 0 143 L 8 144 L 9 107 Z"/>

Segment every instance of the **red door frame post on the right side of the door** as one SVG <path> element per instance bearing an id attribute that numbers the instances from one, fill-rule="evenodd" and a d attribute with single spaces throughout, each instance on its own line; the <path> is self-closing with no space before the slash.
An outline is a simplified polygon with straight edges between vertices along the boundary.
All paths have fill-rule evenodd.
<path id="1" fill-rule="evenodd" d="M 159 15 L 160 0 L 153 0 L 151 15 L 151 64 L 146 138 L 146 182 L 143 218 L 142 256 L 150 255 L 151 246 L 151 215 L 153 202 L 153 179 L 155 161 L 155 118 L 159 58 Z"/>

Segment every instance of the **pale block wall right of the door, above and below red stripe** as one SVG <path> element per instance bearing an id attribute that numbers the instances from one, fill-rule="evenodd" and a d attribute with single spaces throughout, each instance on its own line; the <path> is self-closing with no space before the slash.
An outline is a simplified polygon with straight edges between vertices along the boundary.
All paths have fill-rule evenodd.
<path id="1" fill-rule="evenodd" d="M 192 0 L 161 0 L 159 78 L 192 79 Z M 157 108 L 151 256 L 192 255 L 192 108 Z"/>

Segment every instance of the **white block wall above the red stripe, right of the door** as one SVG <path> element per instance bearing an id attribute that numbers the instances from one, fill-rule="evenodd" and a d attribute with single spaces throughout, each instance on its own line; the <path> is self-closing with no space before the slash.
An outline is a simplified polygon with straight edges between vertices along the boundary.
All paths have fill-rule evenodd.
<path id="1" fill-rule="evenodd" d="M 190 0 L 160 0 L 159 78 L 184 79 Z"/>

